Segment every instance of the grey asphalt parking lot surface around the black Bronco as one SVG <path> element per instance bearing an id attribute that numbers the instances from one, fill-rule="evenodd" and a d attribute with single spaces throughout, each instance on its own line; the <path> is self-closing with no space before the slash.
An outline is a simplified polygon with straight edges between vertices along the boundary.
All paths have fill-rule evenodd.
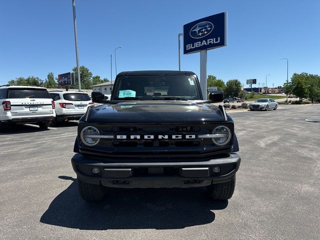
<path id="1" fill-rule="evenodd" d="M 319 239 L 320 105 L 234 111 L 241 164 L 228 201 L 204 188 L 110 189 L 83 201 L 76 122 L 0 133 L 0 239 Z"/>

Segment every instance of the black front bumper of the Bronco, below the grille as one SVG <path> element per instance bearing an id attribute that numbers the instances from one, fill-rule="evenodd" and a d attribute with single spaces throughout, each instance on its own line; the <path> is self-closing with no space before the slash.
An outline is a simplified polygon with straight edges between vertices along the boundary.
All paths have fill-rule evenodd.
<path id="1" fill-rule="evenodd" d="M 73 155 L 72 167 L 84 182 L 108 187 L 195 187 L 229 181 L 238 170 L 240 156 L 231 153 L 228 157 L 200 162 L 118 162 L 104 163 L 105 159 Z M 219 173 L 213 167 L 220 167 Z M 91 172 L 99 168 L 98 174 Z"/>

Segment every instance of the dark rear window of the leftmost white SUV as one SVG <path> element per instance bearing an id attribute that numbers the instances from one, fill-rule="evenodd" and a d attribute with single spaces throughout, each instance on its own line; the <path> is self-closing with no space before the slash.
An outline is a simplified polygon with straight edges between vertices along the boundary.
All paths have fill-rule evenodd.
<path id="1" fill-rule="evenodd" d="M 46 89 L 9 88 L 8 98 L 51 98 Z"/>

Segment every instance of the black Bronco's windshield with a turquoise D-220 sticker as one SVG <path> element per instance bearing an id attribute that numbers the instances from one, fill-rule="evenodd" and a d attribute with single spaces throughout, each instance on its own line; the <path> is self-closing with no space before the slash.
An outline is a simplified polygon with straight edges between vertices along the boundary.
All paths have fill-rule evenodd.
<path id="1" fill-rule="evenodd" d="M 200 99 L 198 86 L 193 76 L 121 76 L 116 82 L 113 92 L 116 100 L 174 99 L 174 97 Z"/>

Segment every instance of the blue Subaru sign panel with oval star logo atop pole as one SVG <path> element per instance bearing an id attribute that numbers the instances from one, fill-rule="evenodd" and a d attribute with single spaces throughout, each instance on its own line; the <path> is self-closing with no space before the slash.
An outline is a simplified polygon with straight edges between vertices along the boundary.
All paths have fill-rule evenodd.
<path id="1" fill-rule="evenodd" d="M 193 53 L 226 45 L 226 12 L 183 25 L 183 53 Z"/>

